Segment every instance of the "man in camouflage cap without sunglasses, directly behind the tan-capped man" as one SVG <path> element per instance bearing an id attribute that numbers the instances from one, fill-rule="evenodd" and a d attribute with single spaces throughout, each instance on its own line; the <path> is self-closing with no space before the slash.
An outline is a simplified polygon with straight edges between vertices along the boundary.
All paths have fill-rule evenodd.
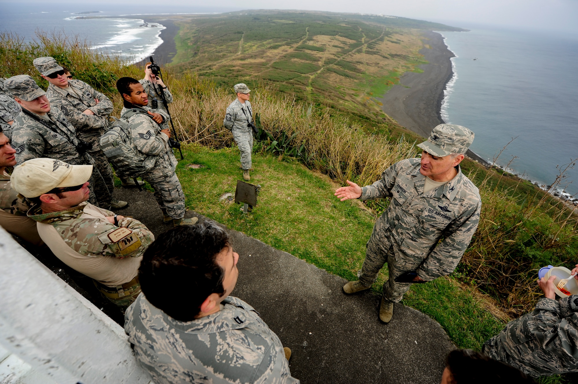
<path id="1" fill-rule="evenodd" d="M 22 107 L 12 125 L 12 148 L 16 149 L 17 164 L 35 157 L 50 157 L 69 164 L 94 164 L 87 152 L 90 145 L 76 137 L 75 127 L 58 108 L 50 108 L 46 92 L 32 77 L 10 77 L 4 82 L 4 88 Z M 88 181 L 92 183 L 94 180 L 104 183 L 96 168 L 92 168 Z M 88 201 L 98 205 L 92 189 Z"/>

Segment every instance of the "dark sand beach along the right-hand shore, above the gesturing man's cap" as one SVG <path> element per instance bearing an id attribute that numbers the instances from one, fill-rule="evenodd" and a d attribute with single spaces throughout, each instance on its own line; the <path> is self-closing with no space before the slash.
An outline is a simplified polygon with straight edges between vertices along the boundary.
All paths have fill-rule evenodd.
<path id="1" fill-rule="evenodd" d="M 432 128 L 444 121 L 440 115 L 443 91 L 453 72 L 450 58 L 454 57 L 443 37 L 437 32 L 424 32 L 424 44 L 420 53 L 428 64 L 420 66 L 423 73 L 407 72 L 399 79 L 380 101 L 383 111 L 395 119 L 399 125 L 427 138 Z M 471 150 L 468 157 L 489 165 L 486 160 Z"/>

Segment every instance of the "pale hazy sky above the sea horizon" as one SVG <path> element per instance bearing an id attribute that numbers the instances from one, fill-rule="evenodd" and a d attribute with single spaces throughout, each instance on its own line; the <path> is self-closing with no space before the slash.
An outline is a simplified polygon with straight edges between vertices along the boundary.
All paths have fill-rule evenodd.
<path id="1" fill-rule="evenodd" d="M 2 2 L 14 0 L 0 0 Z M 79 3 L 78 0 L 57 0 Z M 46 1 L 42 1 L 46 3 Z M 88 0 L 86 3 L 95 2 Z M 430 21 L 452 22 L 456 27 L 468 23 L 497 24 L 524 29 L 546 29 L 578 34 L 578 0 L 101 0 L 99 3 L 134 5 L 135 13 L 194 12 L 211 7 L 220 12 L 239 9 L 303 9 L 333 12 L 383 13 Z M 457 25 L 463 23 L 463 25 Z"/>

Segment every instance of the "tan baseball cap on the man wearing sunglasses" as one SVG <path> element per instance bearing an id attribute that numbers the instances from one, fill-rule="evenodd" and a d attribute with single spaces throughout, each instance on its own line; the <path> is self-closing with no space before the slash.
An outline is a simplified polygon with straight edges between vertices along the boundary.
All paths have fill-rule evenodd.
<path id="1" fill-rule="evenodd" d="M 40 157 L 17 165 L 10 176 L 12 187 L 24 197 L 38 197 L 54 188 L 84 184 L 92 175 L 92 165 L 72 165 Z"/>

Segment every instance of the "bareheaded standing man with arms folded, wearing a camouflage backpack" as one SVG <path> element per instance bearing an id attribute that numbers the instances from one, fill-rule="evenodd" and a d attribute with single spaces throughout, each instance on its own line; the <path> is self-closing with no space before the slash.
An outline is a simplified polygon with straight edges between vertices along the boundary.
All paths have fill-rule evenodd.
<path id="1" fill-rule="evenodd" d="M 116 88 L 124 103 L 120 118 L 128 124 L 139 158 L 142 161 L 153 159 L 154 167 L 141 177 L 153 187 L 164 223 L 173 223 L 175 227 L 197 223 L 197 217 L 184 219 L 184 192 L 175 173 L 177 160 L 169 145 L 171 131 L 164 126 L 169 116 L 161 110 L 147 107 L 149 99 L 138 80 L 121 77 L 116 82 Z"/>

